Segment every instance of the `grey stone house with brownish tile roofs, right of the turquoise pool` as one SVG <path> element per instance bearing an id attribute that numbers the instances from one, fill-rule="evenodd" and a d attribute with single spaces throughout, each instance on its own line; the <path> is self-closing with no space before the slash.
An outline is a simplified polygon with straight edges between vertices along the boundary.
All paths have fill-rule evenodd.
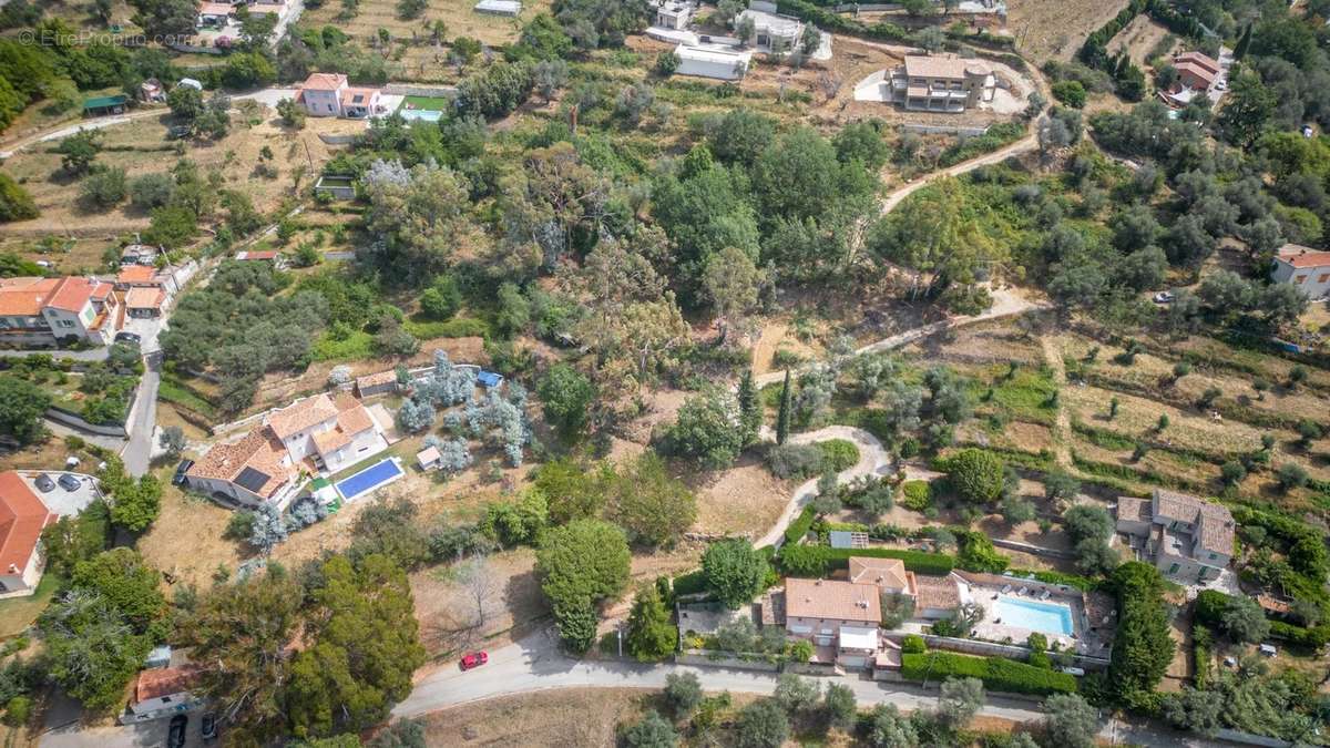
<path id="1" fill-rule="evenodd" d="M 1226 507 L 1166 488 L 1117 499 L 1117 531 L 1137 558 L 1181 583 L 1205 583 L 1228 568 L 1236 527 Z"/>

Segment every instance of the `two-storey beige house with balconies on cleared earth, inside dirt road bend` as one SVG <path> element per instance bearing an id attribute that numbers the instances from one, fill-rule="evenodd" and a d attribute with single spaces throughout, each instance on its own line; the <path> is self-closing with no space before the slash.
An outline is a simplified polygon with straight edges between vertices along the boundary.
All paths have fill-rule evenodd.
<path id="1" fill-rule="evenodd" d="M 988 65 L 955 55 L 906 55 L 887 77 L 891 101 L 911 112 L 960 113 L 991 101 L 998 88 Z"/>

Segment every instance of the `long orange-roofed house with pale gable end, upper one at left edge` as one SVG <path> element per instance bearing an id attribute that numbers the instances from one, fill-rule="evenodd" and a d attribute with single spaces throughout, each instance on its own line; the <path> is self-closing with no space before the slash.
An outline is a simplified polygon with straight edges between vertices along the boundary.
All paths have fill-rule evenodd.
<path id="1" fill-rule="evenodd" d="M 110 283 L 96 278 L 5 278 L 0 281 L 0 345 L 108 345 L 122 322 L 112 291 Z"/>

